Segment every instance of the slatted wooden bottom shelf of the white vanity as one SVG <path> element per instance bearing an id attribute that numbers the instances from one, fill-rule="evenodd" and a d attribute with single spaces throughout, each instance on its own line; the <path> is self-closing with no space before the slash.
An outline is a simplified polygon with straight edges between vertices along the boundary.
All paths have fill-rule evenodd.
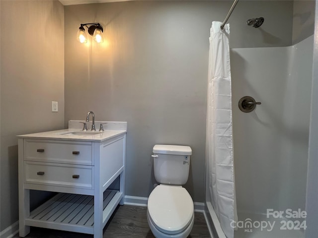
<path id="1" fill-rule="evenodd" d="M 103 195 L 103 226 L 109 220 L 123 194 L 105 190 Z M 94 197 L 89 195 L 58 193 L 36 208 L 25 220 L 27 226 L 69 232 L 94 234 Z"/>

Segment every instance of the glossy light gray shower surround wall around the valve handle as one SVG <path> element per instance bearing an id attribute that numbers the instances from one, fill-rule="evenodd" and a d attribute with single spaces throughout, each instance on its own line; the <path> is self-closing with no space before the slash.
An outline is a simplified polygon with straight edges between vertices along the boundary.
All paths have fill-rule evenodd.
<path id="1" fill-rule="evenodd" d="M 231 51 L 239 221 L 266 220 L 256 215 L 266 209 L 305 210 L 313 39 L 291 47 Z M 262 104 L 243 113 L 238 108 L 243 96 Z M 256 231 L 251 235 L 262 237 Z"/>

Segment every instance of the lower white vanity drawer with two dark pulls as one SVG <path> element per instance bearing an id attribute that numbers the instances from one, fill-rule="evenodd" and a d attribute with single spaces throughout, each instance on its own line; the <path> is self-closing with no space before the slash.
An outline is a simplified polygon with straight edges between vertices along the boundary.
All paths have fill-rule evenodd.
<path id="1" fill-rule="evenodd" d="M 93 189 L 93 166 L 24 162 L 24 182 Z"/>

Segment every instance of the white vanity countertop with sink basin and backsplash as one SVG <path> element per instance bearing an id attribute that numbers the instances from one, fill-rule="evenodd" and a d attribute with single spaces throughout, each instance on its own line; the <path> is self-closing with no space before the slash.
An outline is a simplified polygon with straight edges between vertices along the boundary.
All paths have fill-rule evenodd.
<path id="1" fill-rule="evenodd" d="M 70 121 L 69 125 L 76 121 Z M 107 122 L 107 121 L 106 121 Z M 100 122 L 99 122 L 100 123 Z M 126 127 L 125 124 L 126 123 Z M 116 128 L 116 125 L 120 124 L 121 126 Z M 127 122 L 107 122 L 106 124 L 108 127 L 112 129 L 107 129 L 104 126 L 104 131 L 98 131 L 98 128 L 95 132 L 96 134 L 91 134 L 91 131 L 88 130 L 87 132 L 82 131 L 79 128 L 69 128 L 63 130 L 53 130 L 53 131 L 45 131 L 39 133 L 32 133 L 32 134 L 25 134 L 25 135 L 18 135 L 19 138 L 28 138 L 28 139 L 47 139 L 47 140 L 76 140 L 76 141 L 94 141 L 94 142 L 101 142 L 110 138 L 113 138 L 117 135 L 125 134 L 127 132 Z M 77 126 L 78 127 L 78 126 Z M 89 128 L 87 126 L 87 128 Z M 83 132 L 80 135 L 72 134 L 70 132 Z"/>

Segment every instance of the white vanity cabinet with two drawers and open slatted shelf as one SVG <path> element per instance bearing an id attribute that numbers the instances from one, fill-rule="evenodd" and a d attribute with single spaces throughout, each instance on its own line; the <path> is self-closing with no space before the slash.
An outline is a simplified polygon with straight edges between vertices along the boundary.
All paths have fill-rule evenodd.
<path id="1" fill-rule="evenodd" d="M 44 133 L 18 138 L 19 236 L 34 226 L 102 238 L 111 214 L 123 204 L 126 131 L 91 139 Z M 118 177 L 119 190 L 107 189 Z M 30 211 L 29 189 L 58 194 Z"/>

